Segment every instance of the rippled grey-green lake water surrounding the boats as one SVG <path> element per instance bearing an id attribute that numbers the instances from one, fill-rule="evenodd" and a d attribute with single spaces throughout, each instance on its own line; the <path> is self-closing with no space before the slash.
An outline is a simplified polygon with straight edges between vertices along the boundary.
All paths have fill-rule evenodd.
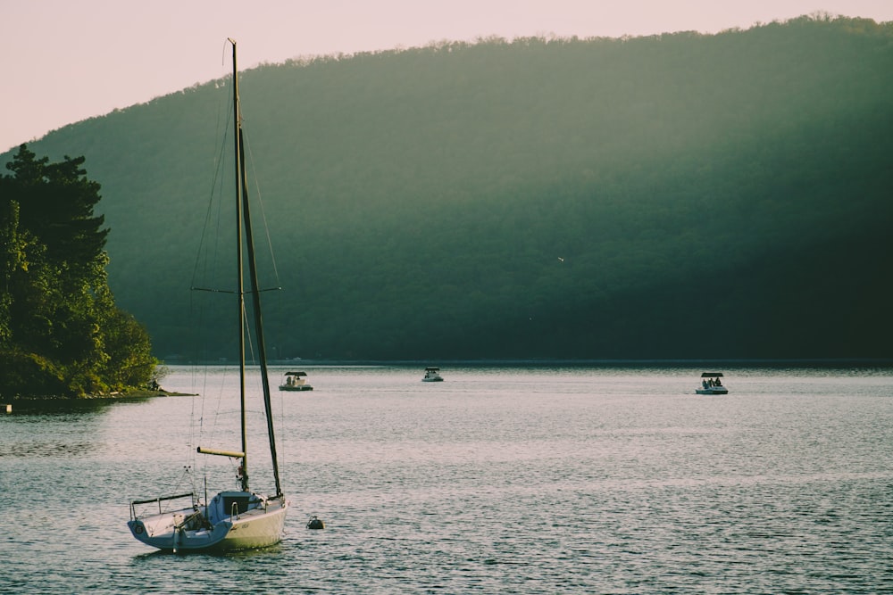
<path id="1" fill-rule="evenodd" d="M 126 526 L 189 477 L 236 486 L 195 454 L 239 448 L 231 369 L 171 368 L 204 400 L 0 416 L 0 592 L 893 593 L 889 368 L 727 369 L 722 397 L 694 368 L 302 369 L 313 392 L 273 395 L 292 508 L 268 550 Z"/>

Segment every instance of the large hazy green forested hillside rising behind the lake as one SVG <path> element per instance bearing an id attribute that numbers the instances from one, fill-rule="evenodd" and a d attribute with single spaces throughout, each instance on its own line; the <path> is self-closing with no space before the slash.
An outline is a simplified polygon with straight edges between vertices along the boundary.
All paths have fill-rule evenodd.
<path id="1" fill-rule="evenodd" d="M 893 23 L 482 39 L 240 77 L 281 359 L 889 358 Z M 230 81 L 29 145 L 101 179 L 109 285 L 200 351 Z M 5 160 L 4 160 L 5 161 Z M 215 211 L 216 212 L 216 211 Z M 225 257 L 222 257 L 225 258 Z M 269 296 L 269 297 L 266 297 Z M 203 298 L 204 300 L 204 298 Z"/>

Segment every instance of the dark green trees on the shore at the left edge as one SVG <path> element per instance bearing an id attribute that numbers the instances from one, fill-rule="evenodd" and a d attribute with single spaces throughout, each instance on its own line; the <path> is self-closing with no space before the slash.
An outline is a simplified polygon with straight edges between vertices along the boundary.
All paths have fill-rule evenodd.
<path id="1" fill-rule="evenodd" d="M 0 396 L 83 396 L 145 385 L 146 329 L 114 303 L 99 184 L 84 158 L 22 145 L 0 176 Z"/>

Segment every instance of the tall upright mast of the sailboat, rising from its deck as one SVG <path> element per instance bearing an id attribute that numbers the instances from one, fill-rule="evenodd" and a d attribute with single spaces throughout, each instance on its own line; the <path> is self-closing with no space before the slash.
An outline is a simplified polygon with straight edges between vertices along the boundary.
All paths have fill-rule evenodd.
<path id="1" fill-rule="evenodd" d="M 232 125 L 236 161 L 236 278 L 238 295 L 238 397 L 242 416 L 242 491 L 248 491 L 248 444 L 245 432 L 245 284 L 242 280 L 242 187 L 245 169 L 242 164 L 242 122 L 238 110 L 238 64 L 236 41 L 232 44 Z"/>

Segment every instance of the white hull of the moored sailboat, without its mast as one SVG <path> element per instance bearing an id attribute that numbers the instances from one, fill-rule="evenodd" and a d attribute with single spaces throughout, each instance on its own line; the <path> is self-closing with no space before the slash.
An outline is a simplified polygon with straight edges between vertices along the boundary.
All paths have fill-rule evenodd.
<path id="1" fill-rule="evenodd" d="M 135 518 L 127 525 L 130 533 L 146 545 L 177 553 L 252 550 L 282 541 L 288 500 L 263 500 L 263 506 L 219 520 L 215 519 L 213 502 L 210 513 L 208 507 L 182 508 Z"/>

